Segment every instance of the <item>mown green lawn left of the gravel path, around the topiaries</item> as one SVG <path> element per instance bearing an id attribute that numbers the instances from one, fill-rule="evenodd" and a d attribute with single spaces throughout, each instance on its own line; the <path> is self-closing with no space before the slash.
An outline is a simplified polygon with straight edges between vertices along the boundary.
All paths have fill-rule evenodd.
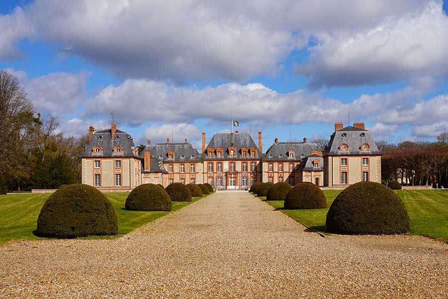
<path id="1" fill-rule="evenodd" d="M 118 219 L 118 234 L 131 232 L 139 226 L 154 221 L 170 212 L 142 212 L 124 210 L 129 193 L 105 193 L 111 200 Z M 39 239 L 33 231 L 37 228 L 37 217 L 50 194 L 8 194 L 0 195 L 0 244 L 15 239 Z M 201 197 L 193 197 L 195 202 Z M 172 202 L 172 211 L 177 211 L 190 202 Z M 89 237 L 111 238 L 111 236 Z"/>

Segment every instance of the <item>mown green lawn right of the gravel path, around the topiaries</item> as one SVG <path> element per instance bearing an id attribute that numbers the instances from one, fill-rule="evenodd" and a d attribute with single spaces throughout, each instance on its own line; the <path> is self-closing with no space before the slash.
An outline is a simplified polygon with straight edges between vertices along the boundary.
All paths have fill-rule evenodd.
<path id="1" fill-rule="evenodd" d="M 340 190 L 324 190 L 328 207 L 316 210 L 285 210 L 283 201 L 266 201 L 291 218 L 320 232 L 325 231 L 328 209 Z M 411 234 L 448 242 L 448 191 L 398 190 L 411 219 Z"/>

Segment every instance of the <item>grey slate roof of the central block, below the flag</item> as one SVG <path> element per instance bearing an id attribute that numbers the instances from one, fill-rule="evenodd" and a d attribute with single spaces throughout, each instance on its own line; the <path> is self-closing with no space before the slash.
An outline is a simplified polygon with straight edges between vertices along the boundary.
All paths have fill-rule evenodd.
<path id="1" fill-rule="evenodd" d="M 250 156 L 250 152 L 246 157 L 243 157 L 241 155 L 241 148 L 246 148 L 247 150 L 255 148 L 257 150 L 255 158 L 257 159 L 260 159 L 263 156 L 249 133 L 233 133 L 233 140 L 231 135 L 231 133 L 215 133 L 206 147 L 206 152 L 202 153 L 203 159 L 254 159 L 254 157 Z M 236 148 L 236 156 L 233 158 L 229 156 L 228 152 L 228 147 L 232 144 Z M 209 148 L 214 150 L 212 158 L 207 157 L 207 149 Z M 218 148 L 223 149 L 223 157 L 216 156 L 216 149 Z"/>

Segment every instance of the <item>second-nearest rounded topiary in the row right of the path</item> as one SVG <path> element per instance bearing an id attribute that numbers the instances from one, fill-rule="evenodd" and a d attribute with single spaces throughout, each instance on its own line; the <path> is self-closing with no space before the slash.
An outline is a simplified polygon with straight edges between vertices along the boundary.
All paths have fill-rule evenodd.
<path id="1" fill-rule="evenodd" d="M 285 209 L 322 209 L 327 207 L 324 192 L 313 183 L 295 185 L 285 198 Z"/>

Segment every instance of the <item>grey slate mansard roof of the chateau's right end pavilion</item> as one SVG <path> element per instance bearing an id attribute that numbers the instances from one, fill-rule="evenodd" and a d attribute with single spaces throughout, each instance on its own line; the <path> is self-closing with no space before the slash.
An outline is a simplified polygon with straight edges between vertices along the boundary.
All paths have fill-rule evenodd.
<path id="1" fill-rule="evenodd" d="M 364 135 L 364 136 L 362 136 Z M 339 146 L 346 144 L 348 151 L 339 151 Z M 361 151 L 361 145 L 367 144 L 370 151 Z M 326 155 L 347 155 L 347 154 L 381 154 L 373 141 L 372 135 L 368 130 L 361 130 L 347 126 L 334 132 L 328 143 Z"/>

